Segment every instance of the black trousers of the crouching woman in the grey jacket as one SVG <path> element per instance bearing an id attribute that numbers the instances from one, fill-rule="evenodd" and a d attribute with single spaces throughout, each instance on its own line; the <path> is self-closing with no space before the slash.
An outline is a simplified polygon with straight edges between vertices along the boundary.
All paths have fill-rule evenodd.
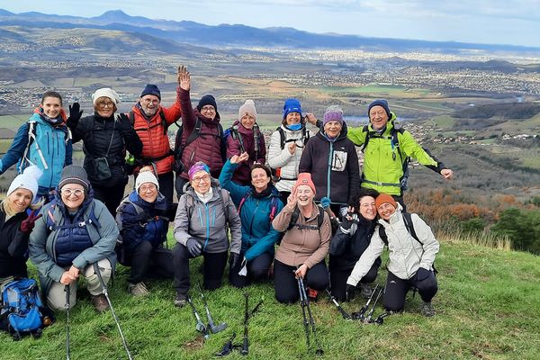
<path id="1" fill-rule="evenodd" d="M 204 258 L 204 275 L 202 286 L 206 290 L 215 290 L 221 286 L 221 279 L 227 265 L 227 251 L 221 253 L 202 252 Z M 175 266 L 175 278 L 173 287 L 178 293 L 187 293 L 191 283 L 189 281 L 189 259 L 193 258 L 187 247 L 176 243 L 173 248 L 173 265 Z"/>

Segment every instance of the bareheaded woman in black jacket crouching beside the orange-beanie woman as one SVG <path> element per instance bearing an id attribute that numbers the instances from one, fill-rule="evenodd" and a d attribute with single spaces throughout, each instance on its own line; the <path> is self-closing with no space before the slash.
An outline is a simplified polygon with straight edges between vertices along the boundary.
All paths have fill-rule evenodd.
<path id="1" fill-rule="evenodd" d="M 352 300 L 354 297 L 354 286 L 349 287 L 348 293 L 346 291 L 347 278 L 374 234 L 377 217 L 375 199 L 378 195 L 375 190 L 360 189 L 330 242 L 330 291 L 339 301 Z M 369 284 L 375 281 L 381 262 L 381 257 L 377 257 L 369 272 L 360 280 L 361 293 L 365 297 L 369 298 L 372 293 Z"/>

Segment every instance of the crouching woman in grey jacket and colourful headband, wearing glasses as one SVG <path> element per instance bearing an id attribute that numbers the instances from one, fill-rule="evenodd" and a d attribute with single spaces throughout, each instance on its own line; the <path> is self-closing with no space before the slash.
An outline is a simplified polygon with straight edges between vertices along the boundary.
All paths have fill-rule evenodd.
<path id="1" fill-rule="evenodd" d="M 189 183 L 184 185 L 175 217 L 174 233 L 178 243 L 173 249 L 173 287 L 176 306 L 187 302 L 190 258 L 204 257 L 204 289 L 215 290 L 221 286 L 229 252 L 227 228 L 230 229 L 229 272 L 241 262 L 242 225 L 229 192 L 212 179 L 210 168 L 202 161 L 196 162 L 188 175 Z"/>

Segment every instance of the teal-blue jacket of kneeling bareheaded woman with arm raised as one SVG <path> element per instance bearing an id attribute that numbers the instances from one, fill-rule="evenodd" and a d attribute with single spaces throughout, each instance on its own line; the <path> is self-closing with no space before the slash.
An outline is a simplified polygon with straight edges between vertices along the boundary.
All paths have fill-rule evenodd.
<path id="1" fill-rule="evenodd" d="M 257 199 L 253 196 L 252 186 L 234 183 L 231 178 L 236 167 L 237 164 L 231 164 L 230 160 L 225 163 L 221 169 L 220 184 L 224 189 L 229 190 L 232 202 L 237 208 L 242 199 L 246 197 L 240 208 L 242 254 L 247 261 L 266 252 L 274 255 L 274 245 L 280 237 L 280 233 L 272 227 L 272 220 L 284 208 L 284 203 L 280 200 L 280 194 L 273 184 L 270 184 L 272 192 L 269 195 Z M 273 203 L 276 204 L 274 211 L 272 209 Z M 274 212 L 272 219 L 271 212 Z"/>

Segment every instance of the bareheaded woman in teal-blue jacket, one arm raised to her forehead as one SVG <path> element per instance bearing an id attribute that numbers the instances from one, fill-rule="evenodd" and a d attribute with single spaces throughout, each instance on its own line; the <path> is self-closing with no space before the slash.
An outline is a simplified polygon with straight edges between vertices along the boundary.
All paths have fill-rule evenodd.
<path id="1" fill-rule="evenodd" d="M 229 269 L 229 281 L 237 287 L 246 286 L 248 280 L 267 278 L 274 260 L 275 242 L 280 238 L 279 232 L 272 227 L 272 220 L 284 207 L 267 166 L 258 163 L 251 166 L 250 185 L 240 185 L 231 180 L 235 169 L 247 159 L 247 153 L 230 157 L 220 175 L 220 184 L 229 190 L 242 221 L 240 257 L 244 257 L 246 263 Z M 247 266 L 247 273 L 241 271 L 244 266 Z"/>

